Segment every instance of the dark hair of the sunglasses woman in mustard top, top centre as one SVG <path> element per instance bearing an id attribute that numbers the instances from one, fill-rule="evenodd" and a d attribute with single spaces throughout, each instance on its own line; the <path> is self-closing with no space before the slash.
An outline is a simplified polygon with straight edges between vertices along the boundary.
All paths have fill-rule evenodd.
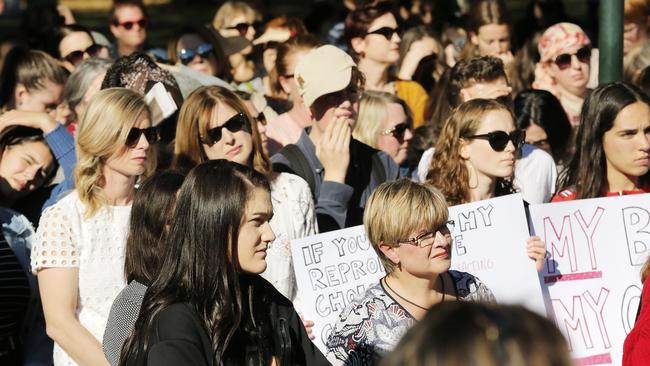
<path id="1" fill-rule="evenodd" d="M 355 61 L 359 60 L 359 54 L 352 47 L 352 39 L 365 37 L 368 33 L 368 28 L 370 28 L 370 24 L 386 13 L 395 14 L 395 4 L 388 0 L 374 0 L 367 1 L 364 5 L 351 11 L 345 18 L 345 33 L 343 37 L 348 46 L 348 53 Z"/>

